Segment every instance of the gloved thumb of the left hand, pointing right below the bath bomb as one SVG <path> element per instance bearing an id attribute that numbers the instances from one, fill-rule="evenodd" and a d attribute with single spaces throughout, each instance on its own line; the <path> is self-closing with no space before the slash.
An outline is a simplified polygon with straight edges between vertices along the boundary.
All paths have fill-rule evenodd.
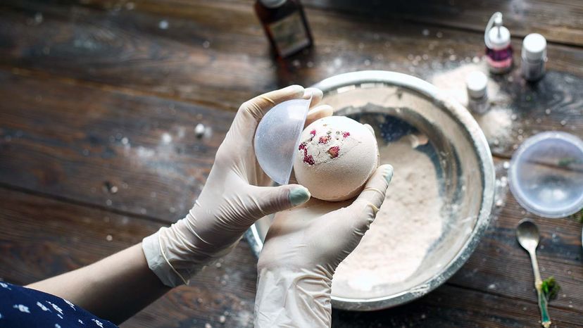
<path id="1" fill-rule="evenodd" d="M 261 216 L 299 206 L 306 203 L 311 197 L 310 191 L 299 184 L 286 184 L 279 187 L 249 187 L 254 200 L 251 207 L 255 207 L 249 210 L 256 211 L 256 214 Z"/>

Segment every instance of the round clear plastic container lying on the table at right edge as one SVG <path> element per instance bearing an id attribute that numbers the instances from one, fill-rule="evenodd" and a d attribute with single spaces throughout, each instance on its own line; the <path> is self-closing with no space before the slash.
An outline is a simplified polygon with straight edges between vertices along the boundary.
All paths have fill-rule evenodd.
<path id="1" fill-rule="evenodd" d="M 514 153 L 510 191 L 542 217 L 565 217 L 583 208 L 583 141 L 565 132 L 542 132 Z"/>

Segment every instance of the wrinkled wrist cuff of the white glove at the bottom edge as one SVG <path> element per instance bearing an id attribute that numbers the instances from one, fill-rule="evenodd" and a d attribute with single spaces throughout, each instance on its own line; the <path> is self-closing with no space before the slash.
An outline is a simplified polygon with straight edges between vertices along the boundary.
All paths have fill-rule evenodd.
<path id="1" fill-rule="evenodd" d="M 255 327 L 330 327 L 332 276 L 326 272 L 259 270 Z"/>

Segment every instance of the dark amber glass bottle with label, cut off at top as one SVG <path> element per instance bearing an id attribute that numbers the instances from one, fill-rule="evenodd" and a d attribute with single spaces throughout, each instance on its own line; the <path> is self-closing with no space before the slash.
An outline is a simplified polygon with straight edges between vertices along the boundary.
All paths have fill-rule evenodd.
<path id="1" fill-rule="evenodd" d="M 276 56 L 285 58 L 312 46 L 312 34 L 299 0 L 257 0 L 255 12 Z"/>

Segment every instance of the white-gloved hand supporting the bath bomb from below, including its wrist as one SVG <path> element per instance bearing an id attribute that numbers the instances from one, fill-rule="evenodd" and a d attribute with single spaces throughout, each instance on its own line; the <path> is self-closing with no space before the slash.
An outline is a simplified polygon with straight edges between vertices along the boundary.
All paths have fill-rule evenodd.
<path id="1" fill-rule="evenodd" d="M 392 176 L 382 165 L 352 203 L 312 198 L 275 215 L 257 265 L 256 328 L 330 327 L 332 275 L 375 220 Z"/>

